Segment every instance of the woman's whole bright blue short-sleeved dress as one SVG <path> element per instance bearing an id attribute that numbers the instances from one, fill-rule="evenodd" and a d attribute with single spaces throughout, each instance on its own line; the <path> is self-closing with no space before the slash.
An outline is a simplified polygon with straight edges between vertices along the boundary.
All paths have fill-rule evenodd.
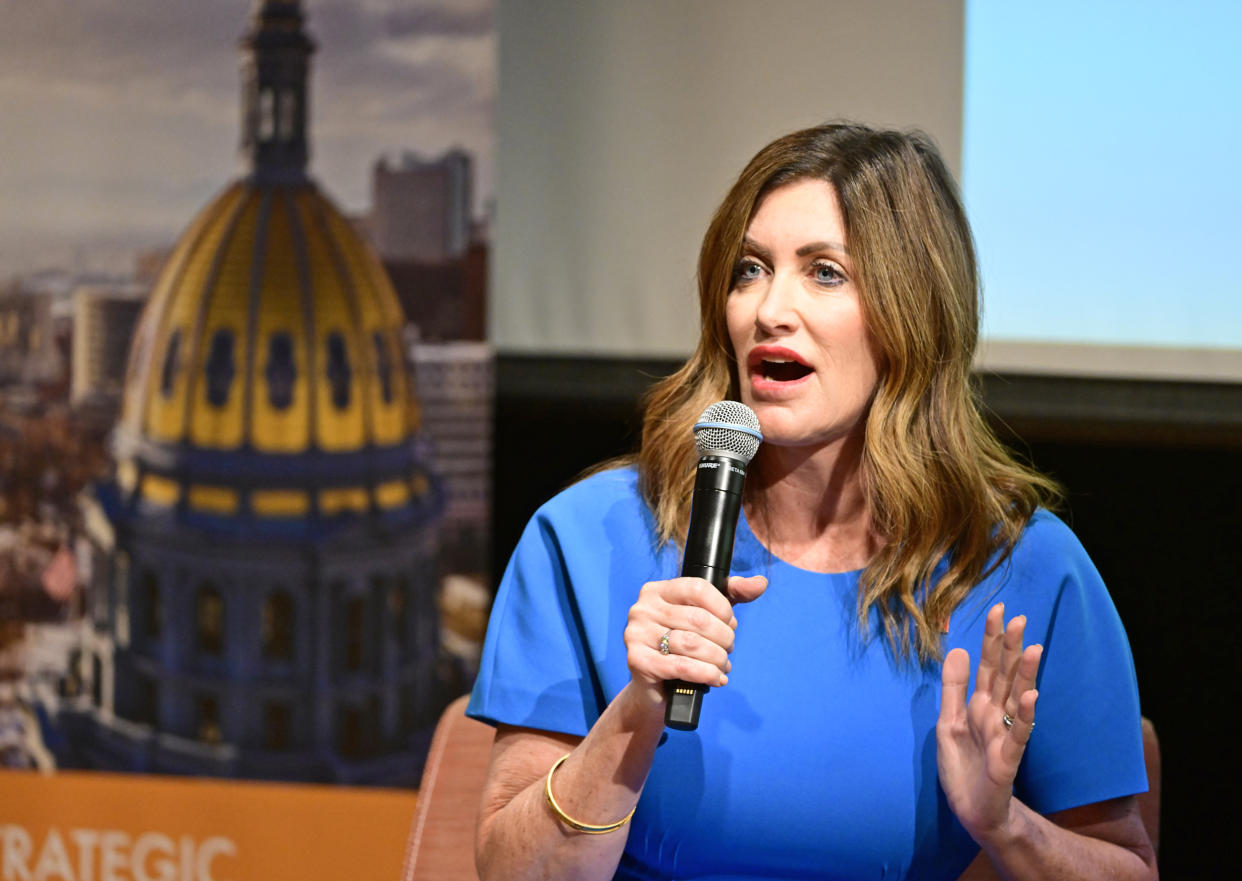
<path id="1" fill-rule="evenodd" d="M 632 468 L 540 508 L 514 550 L 468 714 L 585 734 L 628 682 L 622 632 L 643 583 L 674 578 Z M 738 524 L 734 574 L 768 590 L 735 608 L 729 685 L 697 731 L 656 749 L 616 879 L 956 879 L 977 852 L 936 779 L 940 665 L 894 660 L 878 616 L 858 629 L 858 572 L 807 572 Z M 974 665 L 1005 603 L 1045 646 L 1038 723 L 1015 784 L 1040 813 L 1146 790 L 1138 686 L 1098 573 L 1053 514 L 963 600 L 945 652 Z"/>

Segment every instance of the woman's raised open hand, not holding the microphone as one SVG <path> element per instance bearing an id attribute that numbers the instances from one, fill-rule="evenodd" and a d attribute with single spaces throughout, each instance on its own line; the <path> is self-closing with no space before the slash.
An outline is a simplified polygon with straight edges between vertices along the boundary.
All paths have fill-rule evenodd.
<path id="1" fill-rule="evenodd" d="M 940 675 L 940 787 L 959 823 L 980 844 L 1004 834 L 1009 823 L 1013 778 L 1035 728 L 1035 676 L 1043 654 L 1040 645 L 1022 647 L 1026 618 L 1010 620 L 1007 628 L 1004 621 L 1005 606 L 994 605 L 969 702 L 970 655 L 964 649 L 945 656 Z"/>

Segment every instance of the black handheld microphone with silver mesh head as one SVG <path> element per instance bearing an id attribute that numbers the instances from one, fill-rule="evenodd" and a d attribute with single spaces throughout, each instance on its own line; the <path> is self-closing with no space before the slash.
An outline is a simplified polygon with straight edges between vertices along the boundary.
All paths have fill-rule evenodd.
<path id="1" fill-rule="evenodd" d="M 691 528 L 686 534 L 682 575 L 707 579 L 722 594 L 728 593 L 733 536 L 741 512 L 746 465 L 763 440 L 759 418 L 738 401 L 713 404 L 694 424 L 699 462 L 691 497 Z M 708 686 L 669 680 L 666 688 L 668 706 L 664 708 L 664 724 L 678 731 L 698 728 Z"/>

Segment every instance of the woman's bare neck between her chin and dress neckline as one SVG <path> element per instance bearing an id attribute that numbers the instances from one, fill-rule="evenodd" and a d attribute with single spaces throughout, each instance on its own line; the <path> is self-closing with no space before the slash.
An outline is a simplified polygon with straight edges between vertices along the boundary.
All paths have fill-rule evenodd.
<path id="1" fill-rule="evenodd" d="M 746 519 L 776 557 L 812 572 L 851 572 L 879 548 L 862 478 L 862 441 L 760 447 Z"/>

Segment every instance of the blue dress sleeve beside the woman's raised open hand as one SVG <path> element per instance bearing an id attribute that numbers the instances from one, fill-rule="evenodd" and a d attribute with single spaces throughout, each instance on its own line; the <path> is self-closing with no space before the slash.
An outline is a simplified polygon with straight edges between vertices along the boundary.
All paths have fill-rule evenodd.
<path id="1" fill-rule="evenodd" d="M 1040 512 L 1011 565 L 1027 596 L 1007 600 L 1006 618 L 1027 614 L 1027 642 L 1043 644 L 1036 727 L 1015 793 L 1048 814 L 1146 792 L 1134 661 L 1094 564 L 1068 527 Z"/>

